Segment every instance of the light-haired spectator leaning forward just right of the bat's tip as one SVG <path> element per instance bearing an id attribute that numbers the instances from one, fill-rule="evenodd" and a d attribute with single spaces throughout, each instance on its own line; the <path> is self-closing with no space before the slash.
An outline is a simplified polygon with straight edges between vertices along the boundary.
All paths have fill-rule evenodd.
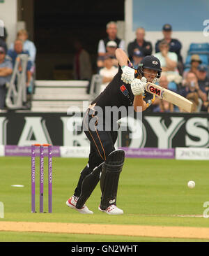
<path id="1" fill-rule="evenodd" d="M 196 73 L 189 71 L 185 78 L 185 86 L 180 90 L 180 95 L 194 103 L 193 112 L 199 112 L 203 102 L 207 101 L 206 92 L 201 90 Z"/>

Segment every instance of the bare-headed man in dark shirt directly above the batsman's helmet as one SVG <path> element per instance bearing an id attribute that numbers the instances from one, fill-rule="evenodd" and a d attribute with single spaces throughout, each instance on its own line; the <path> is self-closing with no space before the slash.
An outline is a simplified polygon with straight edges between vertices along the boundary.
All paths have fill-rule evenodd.
<path id="1" fill-rule="evenodd" d="M 132 61 L 133 53 L 135 50 L 142 52 L 144 56 L 152 55 L 153 46 L 149 41 L 145 41 L 145 30 L 143 27 L 139 27 L 136 30 L 136 38 L 134 41 L 127 45 L 127 53 L 129 55 L 130 61 Z"/>

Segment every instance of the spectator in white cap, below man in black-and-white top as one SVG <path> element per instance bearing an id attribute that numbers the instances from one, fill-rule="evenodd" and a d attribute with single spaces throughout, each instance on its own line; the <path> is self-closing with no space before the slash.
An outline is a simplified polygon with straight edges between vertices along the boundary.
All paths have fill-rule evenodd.
<path id="1" fill-rule="evenodd" d="M 116 49 L 117 44 L 115 41 L 109 41 L 106 45 L 107 55 L 98 56 L 97 66 L 98 66 L 98 73 L 102 67 L 104 67 L 104 58 L 105 56 L 111 57 L 113 65 L 118 67 L 118 60 L 116 59 Z"/>

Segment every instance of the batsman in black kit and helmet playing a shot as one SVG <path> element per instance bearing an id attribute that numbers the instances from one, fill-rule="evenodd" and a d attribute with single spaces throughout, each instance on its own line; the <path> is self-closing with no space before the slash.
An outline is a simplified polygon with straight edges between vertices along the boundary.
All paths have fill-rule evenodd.
<path id="1" fill-rule="evenodd" d="M 105 120 L 108 118 L 105 107 L 132 106 L 134 111 L 145 111 L 153 103 L 155 96 L 145 92 L 144 85 L 147 82 L 156 83 L 162 71 L 159 59 L 152 55 L 144 57 L 138 69 L 132 68 L 132 63 L 121 48 L 116 49 L 116 59 L 119 64 L 118 73 L 91 102 L 84 114 L 83 128 L 90 141 L 88 164 L 81 171 L 74 194 L 66 201 L 67 206 L 79 213 L 93 213 L 86 206 L 86 201 L 100 181 L 102 194 L 98 209 L 109 215 L 123 214 L 123 210 L 116 206 L 116 197 L 125 152 L 114 147 L 118 136 L 117 129 L 114 129 L 116 121 L 123 116 L 118 115 L 118 120 L 111 117 L 110 129 L 105 129 Z M 98 114 L 98 109 L 102 109 L 102 115 Z M 101 119 L 102 125 L 99 125 Z"/>

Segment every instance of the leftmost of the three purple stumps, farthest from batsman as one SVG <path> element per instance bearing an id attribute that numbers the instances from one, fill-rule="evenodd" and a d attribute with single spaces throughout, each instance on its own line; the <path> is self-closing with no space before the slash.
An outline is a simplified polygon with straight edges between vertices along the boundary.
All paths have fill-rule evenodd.
<path id="1" fill-rule="evenodd" d="M 31 213 L 36 213 L 36 153 L 31 145 Z"/>

